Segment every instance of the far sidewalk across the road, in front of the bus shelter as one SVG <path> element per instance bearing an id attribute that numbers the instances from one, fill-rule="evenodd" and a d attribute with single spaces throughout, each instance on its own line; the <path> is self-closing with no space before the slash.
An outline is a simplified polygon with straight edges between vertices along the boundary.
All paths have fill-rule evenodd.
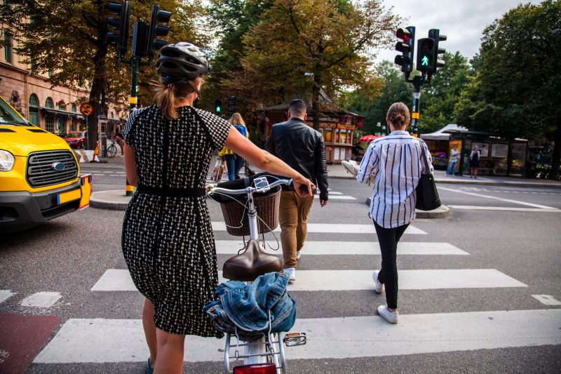
<path id="1" fill-rule="evenodd" d="M 351 173 L 341 164 L 327 165 L 329 178 L 354 179 Z M 513 177 L 495 177 L 484 175 L 477 179 L 469 178 L 469 175 L 447 177 L 445 171 L 434 171 L 437 183 L 448 183 L 453 185 L 484 185 L 484 186 L 510 186 L 510 187 L 535 187 L 535 188 L 561 188 L 561 181 L 547 179 L 524 179 Z"/>

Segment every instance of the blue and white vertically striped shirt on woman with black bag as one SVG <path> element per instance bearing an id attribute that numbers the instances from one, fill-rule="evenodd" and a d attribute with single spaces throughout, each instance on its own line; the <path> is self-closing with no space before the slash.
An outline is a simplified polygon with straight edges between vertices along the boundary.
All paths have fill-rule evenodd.
<path id="1" fill-rule="evenodd" d="M 433 171 L 431 154 L 424 141 L 421 144 Z M 391 229 L 407 225 L 415 218 L 415 188 L 421 171 L 425 171 L 421 159 L 419 140 L 407 131 L 393 131 L 384 138 L 377 138 L 366 150 L 356 180 L 366 183 L 374 175 L 374 190 L 368 215 L 378 225 Z"/>

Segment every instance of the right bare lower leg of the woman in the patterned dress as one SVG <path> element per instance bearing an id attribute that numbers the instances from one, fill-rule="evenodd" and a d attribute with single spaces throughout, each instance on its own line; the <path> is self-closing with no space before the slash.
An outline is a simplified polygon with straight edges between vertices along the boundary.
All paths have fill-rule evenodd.
<path id="1" fill-rule="evenodd" d="M 158 358 L 154 366 L 154 374 L 181 374 L 185 335 L 166 333 L 156 328 L 156 336 Z"/>

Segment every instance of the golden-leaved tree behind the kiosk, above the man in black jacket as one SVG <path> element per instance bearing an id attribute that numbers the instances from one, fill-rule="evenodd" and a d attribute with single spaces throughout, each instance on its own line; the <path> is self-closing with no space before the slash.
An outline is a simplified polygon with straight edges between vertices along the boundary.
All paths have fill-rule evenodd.
<path id="1" fill-rule="evenodd" d="M 388 46 L 398 18 L 376 0 L 273 0 L 243 37 L 243 70 L 231 87 L 256 102 L 298 93 L 311 98 L 319 128 L 319 94 L 365 84 L 374 48 Z"/>

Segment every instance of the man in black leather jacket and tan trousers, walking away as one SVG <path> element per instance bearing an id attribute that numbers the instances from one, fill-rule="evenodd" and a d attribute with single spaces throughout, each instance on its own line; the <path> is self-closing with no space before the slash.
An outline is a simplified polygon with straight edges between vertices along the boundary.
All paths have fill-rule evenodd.
<path id="1" fill-rule="evenodd" d="M 327 205 L 327 166 L 321 133 L 306 124 L 306 103 L 292 100 L 288 121 L 273 125 L 266 150 L 309 178 L 320 189 L 320 206 Z M 300 197 L 283 188 L 280 193 L 278 220 L 283 246 L 285 273 L 296 280 L 296 265 L 308 232 L 308 214 L 313 196 Z"/>

